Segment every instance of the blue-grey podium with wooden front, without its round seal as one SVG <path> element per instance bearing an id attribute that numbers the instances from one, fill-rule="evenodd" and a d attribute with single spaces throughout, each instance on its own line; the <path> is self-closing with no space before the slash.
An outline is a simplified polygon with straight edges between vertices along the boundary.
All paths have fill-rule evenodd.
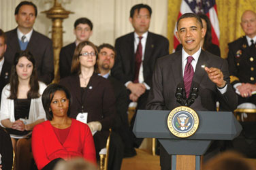
<path id="1" fill-rule="evenodd" d="M 179 138 L 169 131 L 167 116 L 170 111 L 138 110 L 133 133 L 139 138 L 157 138 L 168 154 L 172 155 L 172 170 L 201 169 L 201 156 L 212 140 L 232 140 L 240 134 L 242 126 L 232 112 L 198 111 L 197 131 L 187 138 Z"/>

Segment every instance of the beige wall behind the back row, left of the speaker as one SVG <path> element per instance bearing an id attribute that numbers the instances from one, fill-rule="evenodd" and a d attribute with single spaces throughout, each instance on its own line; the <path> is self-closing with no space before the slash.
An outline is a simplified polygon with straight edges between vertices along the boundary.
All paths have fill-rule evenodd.
<path id="1" fill-rule="evenodd" d="M 9 31 L 16 27 L 14 9 L 21 0 L 0 0 L 0 28 Z M 31 0 L 37 5 L 37 19 L 34 29 L 51 37 L 51 20 L 41 12 L 49 10 L 52 4 L 45 0 Z M 80 17 L 87 17 L 93 22 L 91 41 L 99 45 L 103 42 L 114 44 L 116 37 L 133 31 L 129 23 L 129 10 L 136 3 L 146 3 L 153 9 L 150 31 L 167 35 L 167 0 L 71 0 L 63 5 L 70 10 L 69 18 L 63 22 L 63 45 L 75 40 L 73 34 L 74 21 Z"/>

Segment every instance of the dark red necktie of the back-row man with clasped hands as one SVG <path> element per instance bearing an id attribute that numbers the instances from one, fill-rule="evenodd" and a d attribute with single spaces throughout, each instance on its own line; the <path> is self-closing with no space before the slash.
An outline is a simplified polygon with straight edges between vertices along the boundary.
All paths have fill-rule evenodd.
<path id="1" fill-rule="evenodd" d="M 140 71 L 140 65 L 142 64 L 142 43 L 141 40 L 143 37 L 138 37 L 140 39 L 136 53 L 135 53 L 135 75 L 133 82 L 138 83 L 139 82 L 139 71 Z"/>

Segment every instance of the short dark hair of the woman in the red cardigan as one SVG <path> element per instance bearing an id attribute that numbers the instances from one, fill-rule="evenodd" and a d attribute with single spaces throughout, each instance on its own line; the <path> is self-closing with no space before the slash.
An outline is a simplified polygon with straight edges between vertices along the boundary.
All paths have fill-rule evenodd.
<path id="1" fill-rule="evenodd" d="M 65 88 L 65 86 L 62 86 L 60 84 L 50 84 L 43 92 L 42 95 L 42 103 L 44 107 L 44 111 L 46 112 L 46 118 L 47 120 L 52 120 L 53 114 L 52 111 L 50 110 L 50 103 L 52 103 L 52 99 L 54 97 L 55 92 L 57 91 L 63 91 L 65 92 L 65 95 L 67 99 L 69 100 L 69 108 L 70 108 L 70 103 L 71 103 L 71 95 L 69 90 Z M 69 116 L 70 112 L 69 109 L 67 111 L 67 116 Z"/>

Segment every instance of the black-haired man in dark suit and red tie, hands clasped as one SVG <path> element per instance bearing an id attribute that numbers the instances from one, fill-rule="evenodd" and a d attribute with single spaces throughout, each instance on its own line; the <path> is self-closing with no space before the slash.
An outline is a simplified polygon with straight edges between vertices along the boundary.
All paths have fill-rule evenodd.
<path id="1" fill-rule="evenodd" d="M 116 39 L 116 58 L 111 71 L 111 75 L 129 90 L 129 99 L 138 103 L 137 109 L 145 109 L 157 58 L 169 54 L 168 40 L 148 31 L 151 13 L 151 7 L 145 4 L 131 7 L 129 21 L 134 32 Z M 142 139 L 135 138 L 135 147 L 141 143 Z"/>

